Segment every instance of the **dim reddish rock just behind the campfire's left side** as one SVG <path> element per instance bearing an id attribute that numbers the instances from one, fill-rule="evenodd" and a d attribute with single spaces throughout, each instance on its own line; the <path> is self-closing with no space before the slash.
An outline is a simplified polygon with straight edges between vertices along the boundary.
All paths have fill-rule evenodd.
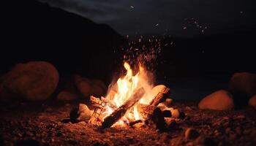
<path id="1" fill-rule="evenodd" d="M 80 76 L 75 77 L 75 85 L 85 98 L 89 96 L 105 96 L 107 91 L 104 82 L 100 80 L 89 80 Z"/>

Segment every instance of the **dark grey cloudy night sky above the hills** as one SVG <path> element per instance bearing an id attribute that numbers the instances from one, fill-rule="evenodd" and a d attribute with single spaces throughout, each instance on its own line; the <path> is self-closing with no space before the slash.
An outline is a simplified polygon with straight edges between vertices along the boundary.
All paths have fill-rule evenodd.
<path id="1" fill-rule="evenodd" d="M 255 0 L 41 0 L 123 35 L 192 37 L 249 29 L 256 24 Z"/>

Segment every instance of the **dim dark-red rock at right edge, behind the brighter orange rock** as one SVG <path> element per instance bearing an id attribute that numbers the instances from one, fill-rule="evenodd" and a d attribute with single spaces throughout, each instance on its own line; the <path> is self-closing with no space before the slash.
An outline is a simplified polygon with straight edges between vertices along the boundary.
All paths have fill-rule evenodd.
<path id="1" fill-rule="evenodd" d="M 241 72 L 233 74 L 230 80 L 231 93 L 242 93 L 246 96 L 253 96 L 256 94 L 256 74 L 248 72 Z"/>

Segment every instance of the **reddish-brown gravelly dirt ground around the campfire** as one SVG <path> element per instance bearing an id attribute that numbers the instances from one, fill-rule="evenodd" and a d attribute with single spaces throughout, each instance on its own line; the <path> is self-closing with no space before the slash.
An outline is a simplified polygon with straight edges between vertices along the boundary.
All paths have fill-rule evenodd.
<path id="1" fill-rule="evenodd" d="M 75 103 L 1 104 L 0 145 L 256 145 L 256 110 L 198 110 L 193 102 L 176 102 L 185 113 L 169 131 L 148 126 L 99 130 L 86 122 L 64 122 Z M 199 136 L 186 139 L 187 128 Z"/>

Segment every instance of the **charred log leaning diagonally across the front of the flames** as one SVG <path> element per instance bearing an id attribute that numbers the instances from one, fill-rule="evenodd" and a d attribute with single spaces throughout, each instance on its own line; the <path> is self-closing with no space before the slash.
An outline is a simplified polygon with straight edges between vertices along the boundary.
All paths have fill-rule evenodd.
<path id="1" fill-rule="evenodd" d="M 132 96 L 124 102 L 121 107 L 118 107 L 117 110 L 115 110 L 111 115 L 109 115 L 102 123 L 101 128 L 108 128 L 112 126 L 114 123 L 116 123 L 120 118 L 122 118 L 127 110 L 129 110 L 131 107 L 133 107 L 145 94 L 144 88 L 139 88 L 137 91 L 135 91 Z"/>

